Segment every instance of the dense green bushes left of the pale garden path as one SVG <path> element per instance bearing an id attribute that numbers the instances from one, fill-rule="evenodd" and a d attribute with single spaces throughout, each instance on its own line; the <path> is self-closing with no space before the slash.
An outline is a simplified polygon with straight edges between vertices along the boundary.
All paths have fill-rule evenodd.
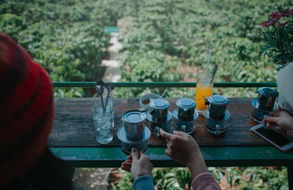
<path id="1" fill-rule="evenodd" d="M 54 82 L 96 81 L 107 56 L 107 25 L 114 26 L 122 4 L 102 0 L 2 0 L 0 32 L 12 36 Z M 83 97 L 81 88 L 55 89 L 57 97 Z"/>

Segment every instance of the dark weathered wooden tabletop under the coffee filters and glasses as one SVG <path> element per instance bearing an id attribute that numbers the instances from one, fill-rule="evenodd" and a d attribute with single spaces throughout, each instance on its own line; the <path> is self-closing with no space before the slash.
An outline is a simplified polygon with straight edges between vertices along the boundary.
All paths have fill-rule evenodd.
<path id="1" fill-rule="evenodd" d="M 165 98 L 170 102 L 169 111 L 176 108 L 179 98 Z M 219 136 L 208 132 L 204 126 L 204 116 L 199 115 L 197 128 L 190 135 L 200 146 L 263 146 L 270 145 L 250 131 L 257 125 L 250 115 L 252 98 L 229 98 L 227 110 L 231 116 L 227 130 Z M 117 132 L 121 126 L 122 114 L 130 109 L 140 108 L 139 98 L 114 98 L 114 139 L 109 144 L 96 141 L 91 108 L 93 98 L 55 98 L 55 121 L 48 139 L 49 147 L 121 147 Z M 147 126 L 147 121 L 146 121 Z M 173 118 L 170 133 L 174 130 Z M 153 135 L 148 147 L 166 147 L 166 140 Z"/>

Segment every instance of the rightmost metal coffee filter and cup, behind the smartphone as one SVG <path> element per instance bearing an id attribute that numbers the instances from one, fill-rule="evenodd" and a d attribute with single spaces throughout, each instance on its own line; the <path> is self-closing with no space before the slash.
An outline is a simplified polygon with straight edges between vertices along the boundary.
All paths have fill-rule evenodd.
<path id="1" fill-rule="evenodd" d="M 251 101 L 253 105 L 251 116 L 256 122 L 262 123 L 264 115 L 271 115 L 279 108 L 279 105 L 275 102 L 278 92 L 269 87 L 262 87 L 255 93 L 258 94 L 258 97 Z"/>

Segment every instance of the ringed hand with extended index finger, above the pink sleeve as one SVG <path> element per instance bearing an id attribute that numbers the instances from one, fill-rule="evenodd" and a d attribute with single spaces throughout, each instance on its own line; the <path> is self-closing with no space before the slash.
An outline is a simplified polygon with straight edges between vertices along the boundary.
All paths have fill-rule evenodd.
<path id="1" fill-rule="evenodd" d="M 174 135 L 160 129 L 162 137 L 167 139 L 166 155 L 188 167 L 193 178 L 208 172 L 198 144 L 194 138 L 181 131 L 174 131 Z"/>

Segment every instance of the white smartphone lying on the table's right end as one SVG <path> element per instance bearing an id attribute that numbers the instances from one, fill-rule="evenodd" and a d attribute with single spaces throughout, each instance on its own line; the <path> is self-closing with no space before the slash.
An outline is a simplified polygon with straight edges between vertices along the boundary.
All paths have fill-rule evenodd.
<path id="1" fill-rule="evenodd" d="M 293 148 L 293 141 L 291 139 L 285 137 L 273 128 L 267 128 L 266 124 L 259 124 L 251 127 L 250 130 L 283 152 Z"/>

